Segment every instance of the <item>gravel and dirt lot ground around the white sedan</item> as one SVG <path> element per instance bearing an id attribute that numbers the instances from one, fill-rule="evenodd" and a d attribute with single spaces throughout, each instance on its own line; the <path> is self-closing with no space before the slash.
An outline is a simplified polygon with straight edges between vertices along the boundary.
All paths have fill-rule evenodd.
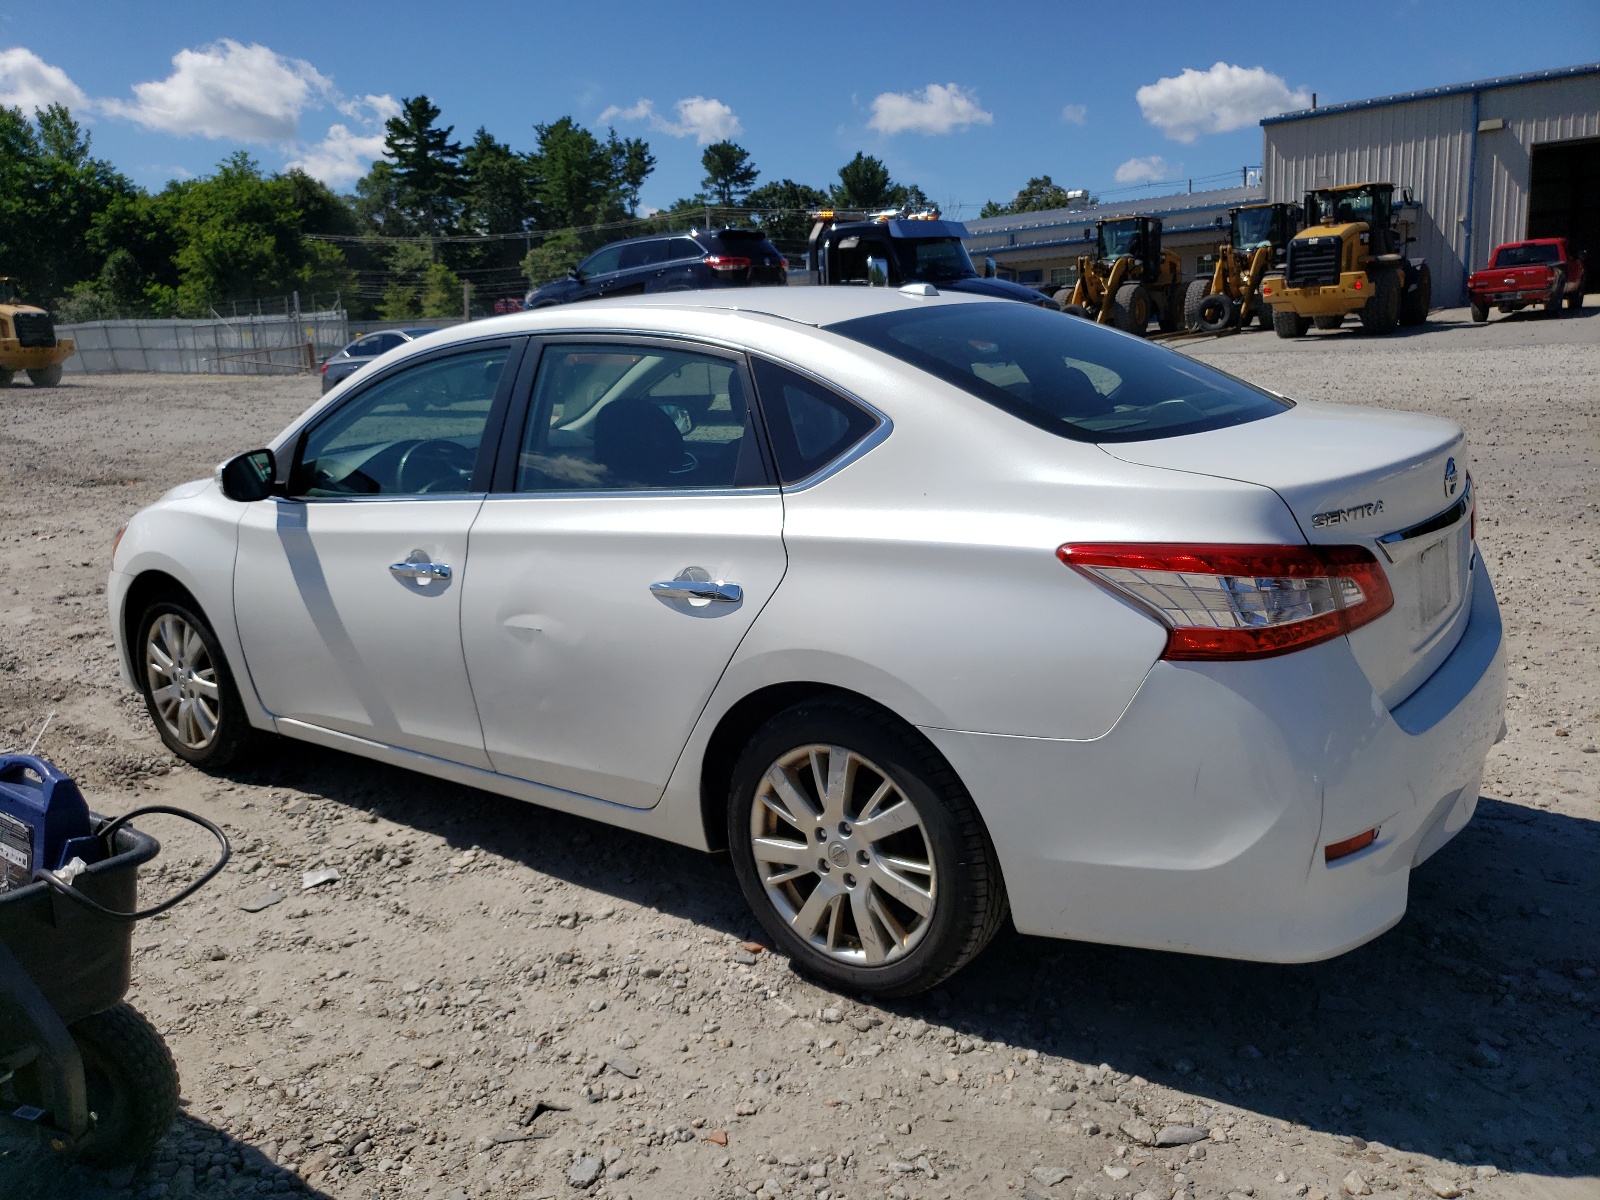
<path id="1" fill-rule="evenodd" d="M 896 1005 L 742 946 L 757 926 L 722 859 L 293 742 L 226 779 L 174 765 L 117 680 L 110 536 L 315 384 L 0 392 L 0 746 L 54 712 L 40 752 L 99 810 L 192 806 L 237 846 L 134 936 L 131 1000 L 184 1077 L 157 1157 L 64 1171 L 0 1141 L 0 1195 L 1592 1200 L 1595 312 L 1189 350 L 1472 437 L 1510 733 L 1395 930 L 1310 966 L 1002 934 Z M 155 894 L 203 845 L 149 829 Z M 302 893 L 325 866 L 339 882 Z M 286 899 L 240 907 L 269 890 Z"/>

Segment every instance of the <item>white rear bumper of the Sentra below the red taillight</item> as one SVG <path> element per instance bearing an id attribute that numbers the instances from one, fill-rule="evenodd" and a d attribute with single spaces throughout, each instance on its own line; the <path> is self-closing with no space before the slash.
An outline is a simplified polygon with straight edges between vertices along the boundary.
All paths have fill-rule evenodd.
<path id="1" fill-rule="evenodd" d="M 1158 662 L 1085 742 L 925 730 L 966 781 L 1016 926 L 1310 962 L 1405 914 L 1411 867 L 1472 818 L 1504 650 L 1482 565 L 1461 643 L 1392 712 L 1341 638 L 1261 662 Z M 1379 827 L 1366 850 L 1323 846 Z"/>

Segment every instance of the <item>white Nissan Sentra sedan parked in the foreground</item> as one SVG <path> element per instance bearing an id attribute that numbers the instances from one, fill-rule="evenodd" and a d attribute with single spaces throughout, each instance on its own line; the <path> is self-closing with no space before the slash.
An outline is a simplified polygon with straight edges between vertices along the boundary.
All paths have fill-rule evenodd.
<path id="1" fill-rule="evenodd" d="M 726 848 L 798 966 L 1024 933 L 1301 962 L 1502 734 L 1461 429 L 928 285 L 384 355 L 112 555 L 173 754 L 294 738 Z"/>

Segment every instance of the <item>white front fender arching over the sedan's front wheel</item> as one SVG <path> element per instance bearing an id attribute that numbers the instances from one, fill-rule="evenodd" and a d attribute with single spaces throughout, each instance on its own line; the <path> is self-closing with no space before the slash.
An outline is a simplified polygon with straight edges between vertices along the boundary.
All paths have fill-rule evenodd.
<path id="1" fill-rule="evenodd" d="M 126 638 L 126 619 L 131 616 L 126 611 L 128 592 L 141 576 L 152 571 L 176 579 L 194 595 L 216 632 L 250 723 L 270 730 L 274 720 L 250 678 L 250 664 L 234 619 L 234 560 L 243 515 L 245 506 L 227 499 L 214 480 L 195 480 L 173 488 L 128 522 L 106 584 L 106 600 L 123 680 L 138 688 L 133 646 Z"/>

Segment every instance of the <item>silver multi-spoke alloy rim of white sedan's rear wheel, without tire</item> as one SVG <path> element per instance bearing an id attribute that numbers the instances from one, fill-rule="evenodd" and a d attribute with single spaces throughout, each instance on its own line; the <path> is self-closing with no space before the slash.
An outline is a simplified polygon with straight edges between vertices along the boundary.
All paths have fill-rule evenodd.
<path id="1" fill-rule="evenodd" d="M 773 907 L 835 962 L 891 963 L 928 933 L 933 842 L 917 806 L 854 750 L 802 746 L 773 762 L 750 805 L 750 846 Z"/>

